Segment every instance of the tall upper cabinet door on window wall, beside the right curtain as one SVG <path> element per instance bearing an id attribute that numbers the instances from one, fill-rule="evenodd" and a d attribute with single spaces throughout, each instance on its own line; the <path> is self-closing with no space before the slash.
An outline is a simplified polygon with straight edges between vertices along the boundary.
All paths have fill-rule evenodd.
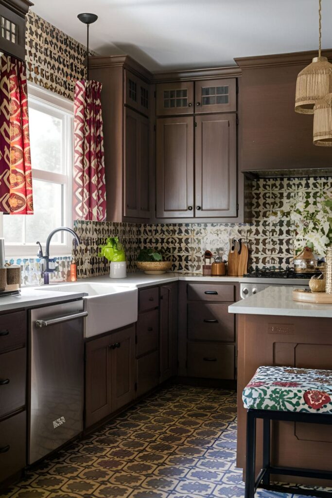
<path id="1" fill-rule="evenodd" d="M 125 109 L 124 215 L 150 217 L 149 121 Z"/>

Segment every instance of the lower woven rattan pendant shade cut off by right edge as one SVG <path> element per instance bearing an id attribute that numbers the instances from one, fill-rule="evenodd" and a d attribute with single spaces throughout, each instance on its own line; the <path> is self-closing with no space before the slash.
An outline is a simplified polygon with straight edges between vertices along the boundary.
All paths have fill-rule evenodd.
<path id="1" fill-rule="evenodd" d="M 332 147 L 332 93 L 326 95 L 315 105 L 314 144 Z"/>

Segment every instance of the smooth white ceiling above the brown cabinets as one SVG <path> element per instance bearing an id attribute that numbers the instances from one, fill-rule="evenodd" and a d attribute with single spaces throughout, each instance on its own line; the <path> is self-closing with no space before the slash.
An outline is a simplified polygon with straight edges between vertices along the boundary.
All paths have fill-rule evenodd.
<path id="1" fill-rule="evenodd" d="M 32 0 L 37 14 L 82 43 L 80 12 L 99 18 L 90 48 L 128 54 L 150 71 L 233 65 L 234 57 L 318 47 L 318 0 Z M 332 1 L 322 0 L 332 48 Z"/>

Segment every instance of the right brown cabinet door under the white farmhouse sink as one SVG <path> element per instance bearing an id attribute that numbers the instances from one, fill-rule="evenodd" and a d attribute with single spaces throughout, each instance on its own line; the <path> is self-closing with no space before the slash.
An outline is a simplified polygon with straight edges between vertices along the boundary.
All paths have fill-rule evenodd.
<path id="1" fill-rule="evenodd" d="M 135 326 L 114 332 L 112 352 L 112 411 L 135 397 Z"/>

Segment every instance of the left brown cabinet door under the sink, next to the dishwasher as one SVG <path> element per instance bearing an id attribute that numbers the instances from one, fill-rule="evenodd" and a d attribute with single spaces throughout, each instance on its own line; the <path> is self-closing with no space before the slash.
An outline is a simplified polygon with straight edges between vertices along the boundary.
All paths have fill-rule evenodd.
<path id="1" fill-rule="evenodd" d="M 111 345 L 111 334 L 86 344 L 86 427 L 102 420 L 112 411 Z"/>

